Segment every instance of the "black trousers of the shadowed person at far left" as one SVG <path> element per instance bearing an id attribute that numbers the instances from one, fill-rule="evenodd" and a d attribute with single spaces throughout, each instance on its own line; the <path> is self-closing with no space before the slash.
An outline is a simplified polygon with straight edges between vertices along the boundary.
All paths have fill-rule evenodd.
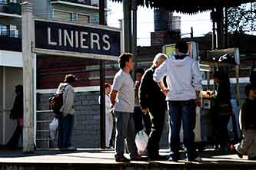
<path id="1" fill-rule="evenodd" d="M 13 133 L 11 139 L 7 142 L 6 146 L 12 149 L 15 149 L 18 147 L 19 139 L 22 137 L 22 126 L 20 126 L 20 123 L 17 119 L 17 126 L 15 129 L 15 132 Z"/>

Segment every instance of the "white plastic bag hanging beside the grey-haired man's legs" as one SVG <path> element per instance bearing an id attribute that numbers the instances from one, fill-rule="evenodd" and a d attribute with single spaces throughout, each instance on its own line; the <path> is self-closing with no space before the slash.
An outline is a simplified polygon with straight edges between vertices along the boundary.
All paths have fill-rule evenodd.
<path id="1" fill-rule="evenodd" d="M 145 149 L 148 146 L 148 135 L 145 130 L 141 130 L 136 134 L 135 143 L 139 153 L 145 152 Z"/>

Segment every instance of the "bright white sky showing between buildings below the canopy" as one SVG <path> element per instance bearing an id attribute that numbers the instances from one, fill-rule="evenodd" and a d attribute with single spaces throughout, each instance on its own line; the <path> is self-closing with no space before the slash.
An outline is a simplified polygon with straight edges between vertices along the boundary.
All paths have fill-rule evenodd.
<path id="1" fill-rule="evenodd" d="M 122 5 L 118 2 L 108 1 L 108 25 L 119 27 L 119 19 L 122 18 Z M 150 46 L 150 33 L 154 32 L 154 12 L 151 8 L 138 8 L 137 34 L 138 45 Z M 182 15 L 175 13 L 175 16 L 181 16 L 181 34 L 191 32 L 191 27 L 194 30 L 194 36 L 204 36 L 212 29 L 210 20 L 210 12 L 200 13 L 198 15 Z M 184 35 L 183 37 L 188 37 Z"/>

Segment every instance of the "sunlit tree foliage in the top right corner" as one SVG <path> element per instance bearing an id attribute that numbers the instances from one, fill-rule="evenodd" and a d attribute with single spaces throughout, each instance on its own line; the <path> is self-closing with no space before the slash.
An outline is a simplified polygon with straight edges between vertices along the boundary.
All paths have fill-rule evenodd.
<path id="1" fill-rule="evenodd" d="M 228 31 L 239 34 L 256 31 L 256 2 L 228 8 Z"/>

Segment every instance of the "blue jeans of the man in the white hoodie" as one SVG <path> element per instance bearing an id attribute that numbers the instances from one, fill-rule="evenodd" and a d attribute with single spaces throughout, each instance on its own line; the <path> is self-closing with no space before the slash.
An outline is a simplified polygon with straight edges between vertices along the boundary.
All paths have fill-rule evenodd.
<path id="1" fill-rule="evenodd" d="M 182 121 L 185 155 L 188 159 L 194 159 L 196 155 L 195 149 L 193 147 L 196 116 L 195 100 L 168 101 L 168 111 L 170 121 L 169 126 L 171 129 L 169 133 L 171 157 L 173 159 L 179 159 L 178 151 L 181 146 L 180 130 Z"/>

